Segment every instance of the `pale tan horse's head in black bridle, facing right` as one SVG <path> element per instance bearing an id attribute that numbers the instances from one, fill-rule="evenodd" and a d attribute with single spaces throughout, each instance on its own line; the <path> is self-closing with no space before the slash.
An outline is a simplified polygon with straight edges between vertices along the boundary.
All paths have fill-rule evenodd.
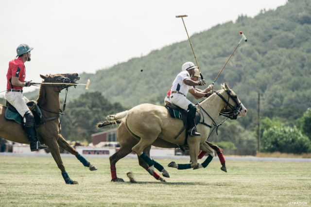
<path id="1" fill-rule="evenodd" d="M 217 95 L 220 96 L 225 102 L 225 108 L 220 111 L 220 114 L 228 117 L 231 120 L 235 120 L 241 116 L 246 116 L 247 109 L 241 103 L 237 94 L 235 94 L 235 92 L 231 90 L 226 83 L 222 84 L 221 86 L 225 90 L 225 96 L 227 97 L 216 92 Z"/>

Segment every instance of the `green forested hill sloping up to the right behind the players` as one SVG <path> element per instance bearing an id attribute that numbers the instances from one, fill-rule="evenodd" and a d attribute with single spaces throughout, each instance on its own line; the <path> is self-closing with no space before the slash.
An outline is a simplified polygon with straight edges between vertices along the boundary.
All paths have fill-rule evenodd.
<path id="1" fill-rule="evenodd" d="M 261 11 L 254 18 L 240 16 L 236 22 L 190 36 L 207 84 L 212 83 L 238 44 L 240 31 L 248 41 L 242 42 L 232 56 L 215 89 L 227 82 L 247 108 L 257 107 L 260 92 L 264 110 L 291 107 L 305 111 L 311 100 L 311 0 L 289 0 L 286 5 Z M 182 64 L 195 63 L 186 37 L 185 32 L 185 41 L 98 70 L 96 74 L 80 74 L 80 82 L 90 78 L 89 91 L 100 91 L 108 100 L 125 107 L 163 104 Z M 84 92 L 84 87 L 70 88 L 68 99 Z"/>

